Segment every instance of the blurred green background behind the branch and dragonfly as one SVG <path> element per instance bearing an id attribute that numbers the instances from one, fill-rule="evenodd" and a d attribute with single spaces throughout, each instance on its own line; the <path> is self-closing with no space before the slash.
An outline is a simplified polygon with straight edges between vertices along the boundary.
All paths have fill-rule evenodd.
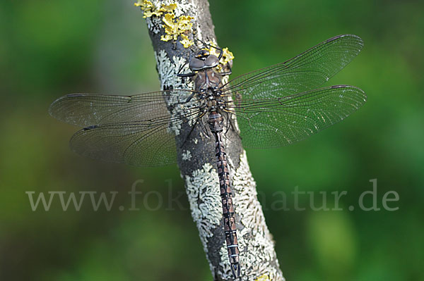
<path id="1" fill-rule="evenodd" d="M 233 77 L 334 35 L 365 42 L 327 84 L 362 88 L 363 108 L 299 144 L 247 151 L 287 280 L 423 280 L 423 6 L 211 1 L 218 42 L 235 55 Z M 0 39 L 0 280 L 212 280 L 177 166 L 82 158 L 67 146 L 76 127 L 47 114 L 64 94 L 159 89 L 139 8 L 132 1 L 1 1 Z M 389 206 L 399 210 L 348 211 L 375 178 L 378 206 L 396 191 L 399 201 Z M 93 211 L 86 201 L 81 211 L 62 211 L 58 199 L 49 211 L 32 211 L 25 194 L 119 192 L 113 206 L 128 208 L 137 180 L 140 211 Z M 295 187 L 316 192 L 317 206 L 318 192 L 347 191 L 344 211 L 272 208 L 278 191 L 293 207 Z M 169 201 L 180 194 L 178 204 Z M 301 206 L 308 202 L 300 197 Z"/>

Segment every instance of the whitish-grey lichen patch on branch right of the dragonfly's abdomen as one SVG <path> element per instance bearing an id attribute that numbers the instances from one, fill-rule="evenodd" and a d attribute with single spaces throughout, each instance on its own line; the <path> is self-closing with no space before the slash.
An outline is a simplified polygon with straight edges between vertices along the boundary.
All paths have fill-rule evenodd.
<path id="1" fill-rule="evenodd" d="M 284 280 L 264 213 L 257 200 L 256 183 L 250 173 L 245 151 L 240 156 L 240 166 L 235 171 L 232 182 L 237 194 L 233 203 L 242 225 L 238 235 L 242 280 L 254 280 L 260 275 L 268 275 L 270 280 Z"/>

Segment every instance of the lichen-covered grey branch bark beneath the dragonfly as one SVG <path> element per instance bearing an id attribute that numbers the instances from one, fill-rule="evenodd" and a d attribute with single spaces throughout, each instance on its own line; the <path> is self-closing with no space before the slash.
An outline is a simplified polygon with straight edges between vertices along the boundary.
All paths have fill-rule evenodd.
<path id="1" fill-rule="evenodd" d="M 165 4 L 164 4 L 165 2 Z M 155 51 L 157 70 L 162 89 L 194 89 L 192 82 L 182 82 L 177 77 L 179 69 L 188 73 L 188 61 L 196 47 L 184 48 L 177 40 L 164 42 L 164 13 L 149 13 L 169 4 L 176 4 L 175 19 L 182 15 L 192 16 L 190 39 L 196 42 L 216 42 L 213 23 L 206 0 L 151 1 L 153 8 L 139 6 L 145 11 L 146 23 Z M 147 9 L 147 11 L 146 11 Z M 158 15 L 160 14 L 160 15 Z M 151 16 L 150 16 L 151 15 Z M 218 44 L 216 44 L 218 46 Z M 184 108 L 183 108 L 184 109 Z M 178 127 L 177 161 L 185 181 L 192 217 L 199 229 L 214 280 L 232 280 L 230 263 L 225 246 L 222 208 L 216 171 L 214 140 L 201 132 L 201 127 L 183 123 Z M 231 133 L 229 130 L 228 133 Z M 187 136 L 188 139 L 187 139 Z M 257 200 L 256 183 L 249 170 L 245 150 L 237 134 L 225 139 L 230 184 L 233 190 L 233 204 L 237 223 L 237 237 L 240 248 L 241 277 L 239 280 L 284 280 L 278 265 L 274 244 L 266 227 L 264 213 Z"/>

